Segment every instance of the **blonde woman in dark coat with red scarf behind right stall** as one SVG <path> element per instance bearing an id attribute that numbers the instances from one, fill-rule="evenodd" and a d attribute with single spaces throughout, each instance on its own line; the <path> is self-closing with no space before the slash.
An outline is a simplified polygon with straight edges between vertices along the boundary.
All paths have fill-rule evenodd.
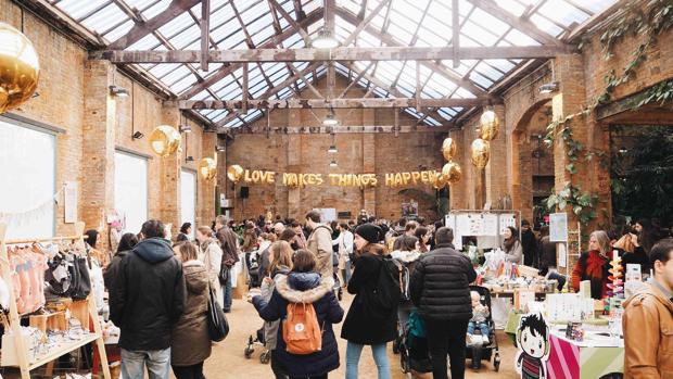
<path id="1" fill-rule="evenodd" d="M 572 287 L 580 291 L 580 282 L 591 280 L 592 298 L 604 299 L 608 294 L 610 273 L 610 238 L 604 230 L 595 230 L 589 236 L 589 251 L 582 253 L 572 270 Z"/>

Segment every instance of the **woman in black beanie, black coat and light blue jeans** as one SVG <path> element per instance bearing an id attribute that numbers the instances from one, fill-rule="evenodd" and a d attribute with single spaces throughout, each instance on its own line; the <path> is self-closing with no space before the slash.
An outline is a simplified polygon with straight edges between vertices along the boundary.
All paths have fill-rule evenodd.
<path id="1" fill-rule="evenodd" d="M 392 309 L 371 309 L 368 294 L 377 289 L 381 266 L 385 260 L 385 248 L 379 242 L 384 235 L 373 224 L 363 224 L 355 229 L 355 247 L 361 254 L 354 255 L 355 269 L 348 281 L 348 293 L 355 294 L 341 338 L 348 341 L 346 348 L 346 379 L 357 378 L 357 367 L 365 345 L 370 345 L 379 370 L 379 378 L 390 378 L 390 364 L 385 353 L 388 342 L 397 337 L 397 303 Z M 397 277 L 397 273 L 393 277 Z M 392 289 L 399 291 L 399 287 Z M 372 313 L 373 312 L 373 313 Z M 377 317 L 370 315 L 377 314 Z"/>

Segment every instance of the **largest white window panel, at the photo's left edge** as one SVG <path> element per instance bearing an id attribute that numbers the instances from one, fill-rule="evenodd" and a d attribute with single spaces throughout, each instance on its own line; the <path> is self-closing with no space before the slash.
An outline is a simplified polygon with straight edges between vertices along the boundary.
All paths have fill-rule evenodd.
<path id="1" fill-rule="evenodd" d="M 0 214 L 8 239 L 54 235 L 55 147 L 51 132 L 0 119 Z"/>

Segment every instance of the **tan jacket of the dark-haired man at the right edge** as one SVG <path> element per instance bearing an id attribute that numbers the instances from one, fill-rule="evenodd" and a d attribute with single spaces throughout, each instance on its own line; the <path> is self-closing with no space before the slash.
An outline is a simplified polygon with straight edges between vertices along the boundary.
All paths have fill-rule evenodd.
<path id="1" fill-rule="evenodd" d="M 648 283 L 624 306 L 624 379 L 672 379 L 673 303 Z"/>

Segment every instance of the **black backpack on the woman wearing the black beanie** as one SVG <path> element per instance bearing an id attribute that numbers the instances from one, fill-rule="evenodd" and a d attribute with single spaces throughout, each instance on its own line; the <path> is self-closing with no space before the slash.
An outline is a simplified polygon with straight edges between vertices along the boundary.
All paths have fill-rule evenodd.
<path id="1" fill-rule="evenodd" d="M 368 289 L 364 298 L 366 316 L 373 320 L 385 320 L 397 312 L 402 299 L 398 279 L 399 269 L 392 258 L 384 258 L 379 267 L 376 285 Z"/>

